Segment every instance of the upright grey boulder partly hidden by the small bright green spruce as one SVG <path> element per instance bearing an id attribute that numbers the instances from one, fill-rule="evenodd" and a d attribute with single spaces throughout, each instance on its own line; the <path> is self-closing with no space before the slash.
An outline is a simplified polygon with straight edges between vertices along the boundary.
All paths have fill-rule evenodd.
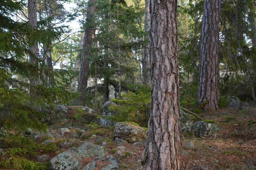
<path id="1" fill-rule="evenodd" d="M 108 106 L 113 106 L 113 105 L 117 106 L 117 104 L 115 104 L 114 102 L 111 102 L 111 101 L 107 101 L 103 104 L 102 109 L 101 109 L 102 118 L 100 118 L 101 125 L 104 125 L 104 126 L 113 126 L 114 125 L 114 122 L 107 119 L 107 116 L 113 116 L 113 115 L 117 114 L 117 112 L 108 108 Z"/>

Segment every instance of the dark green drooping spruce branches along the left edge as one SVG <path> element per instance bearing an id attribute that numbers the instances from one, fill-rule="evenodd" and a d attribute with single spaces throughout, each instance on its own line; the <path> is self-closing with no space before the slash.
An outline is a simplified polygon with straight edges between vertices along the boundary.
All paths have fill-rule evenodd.
<path id="1" fill-rule="evenodd" d="M 47 126 L 39 121 L 46 115 L 39 108 L 53 106 L 53 101 L 69 104 L 77 94 L 45 87 L 44 75 L 48 76 L 50 71 L 44 61 L 36 59 L 38 64 L 28 63 L 28 55 L 35 58 L 30 52 L 31 45 L 44 44 L 47 37 L 58 39 L 63 29 L 44 29 L 40 27 L 43 22 L 38 23 L 38 28 L 31 28 L 27 22 L 14 21 L 12 16 L 23 10 L 24 5 L 23 1 L 0 2 L 0 128 L 46 131 Z M 38 85 L 31 85 L 31 79 L 38 79 Z"/>

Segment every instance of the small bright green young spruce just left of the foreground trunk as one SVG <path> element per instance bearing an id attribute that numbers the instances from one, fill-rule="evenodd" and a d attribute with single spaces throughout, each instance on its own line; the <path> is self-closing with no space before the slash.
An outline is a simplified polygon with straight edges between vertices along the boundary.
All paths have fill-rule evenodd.
<path id="1" fill-rule="evenodd" d="M 122 93 L 123 100 L 112 99 L 115 103 L 120 103 L 121 106 L 109 106 L 111 110 L 118 112 L 109 119 L 115 122 L 135 122 L 143 126 L 147 124 L 148 112 L 150 107 L 150 93 Z"/>

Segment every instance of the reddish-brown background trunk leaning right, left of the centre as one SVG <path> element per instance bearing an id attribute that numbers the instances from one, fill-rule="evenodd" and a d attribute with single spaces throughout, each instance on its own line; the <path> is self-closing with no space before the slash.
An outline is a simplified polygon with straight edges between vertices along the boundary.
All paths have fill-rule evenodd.
<path id="1" fill-rule="evenodd" d="M 86 24 L 84 30 L 84 49 L 81 56 L 81 65 L 79 71 L 79 83 L 77 91 L 81 93 L 80 102 L 83 105 L 86 103 L 86 88 L 89 72 L 89 54 L 92 46 L 92 36 L 94 33 L 94 22 L 96 0 L 88 1 L 89 5 L 87 9 Z"/>

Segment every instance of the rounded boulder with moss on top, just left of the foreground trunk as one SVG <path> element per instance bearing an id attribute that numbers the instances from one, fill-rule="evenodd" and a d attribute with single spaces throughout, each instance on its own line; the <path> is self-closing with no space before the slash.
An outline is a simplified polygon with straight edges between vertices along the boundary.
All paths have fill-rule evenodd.
<path id="1" fill-rule="evenodd" d="M 116 137 L 129 143 L 138 142 L 147 138 L 147 130 L 140 127 L 137 123 L 119 122 L 116 123 L 114 129 L 114 139 Z"/>

